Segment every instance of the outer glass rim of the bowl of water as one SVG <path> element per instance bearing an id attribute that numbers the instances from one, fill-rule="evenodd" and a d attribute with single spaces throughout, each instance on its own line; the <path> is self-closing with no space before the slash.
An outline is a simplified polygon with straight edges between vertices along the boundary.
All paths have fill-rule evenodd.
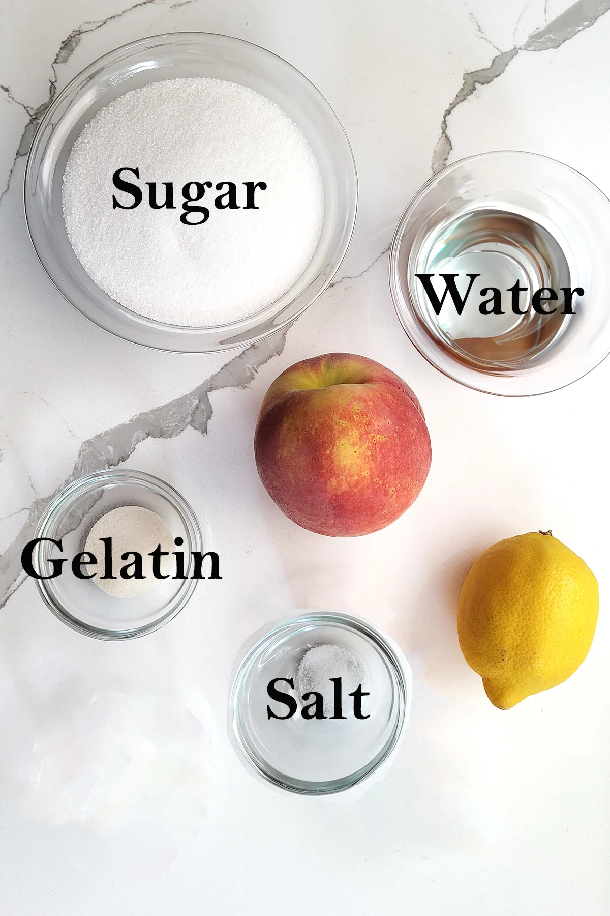
<path id="1" fill-rule="evenodd" d="M 412 195 L 410 201 L 407 203 L 407 206 L 404 208 L 404 210 L 401 213 L 398 224 L 396 225 L 396 229 L 394 230 L 394 234 L 392 235 L 392 240 L 391 240 L 391 245 L 390 245 L 390 256 L 388 258 L 388 279 L 389 279 L 389 285 L 390 285 L 390 294 L 391 294 L 392 304 L 394 306 L 394 311 L 396 312 L 399 322 L 401 322 L 402 330 L 404 331 L 404 333 L 406 333 L 407 337 L 409 338 L 410 342 L 415 347 L 417 352 L 421 356 L 423 356 L 423 359 L 425 359 L 426 363 L 428 363 L 429 365 L 432 365 L 433 368 L 436 369 L 437 372 L 441 372 L 445 377 L 450 378 L 454 382 L 457 382 L 458 385 L 462 385 L 463 387 L 470 388 L 470 390 L 472 391 L 481 392 L 482 394 L 494 395 L 497 398 L 534 398 L 534 397 L 539 397 L 540 395 L 544 395 L 544 394 L 551 394 L 551 392 L 553 391 L 560 391 L 562 388 L 569 387 L 570 385 L 573 385 L 575 382 L 580 381 L 581 378 L 588 376 L 590 372 L 593 372 L 594 369 L 596 369 L 598 365 L 601 365 L 604 362 L 608 354 L 610 354 L 610 347 L 608 349 L 608 352 L 604 356 L 602 356 L 601 359 L 598 360 L 597 363 L 595 363 L 595 365 L 592 365 L 581 375 L 576 376 L 575 378 L 571 378 L 569 381 L 564 382 L 561 385 L 553 385 L 552 387 L 542 387 L 538 391 L 498 391 L 498 390 L 494 390 L 491 387 L 485 387 L 481 384 L 477 385 L 476 379 L 474 376 L 476 377 L 482 376 L 484 378 L 491 378 L 491 377 L 496 377 L 496 376 L 487 376 L 485 373 L 477 373 L 476 370 L 473 369 L 473 370 L 468 370 L 469 376 L 470 375 L 473 376 L 472 380 L 466 381 L 465 378 L 458 376 L 457 371 L 455 371 L 455 374 L 451 372 L 451 368 L 453 366 L 439 365 L 438 362 L 434 362 L 433 357 L 430 354 L 423 352 L 422 347 L 413 338 L 408 323 L 405 322 L 404 320 L 403 312 L 410 311 L 410 309 L 404 306 L 401 291 L 396 288 L 396 284 L 394 282 L 395 274 L 398 269 L 397 265 L 398 265 L 398 258 L 399 258 L 400 249 L 401 249 L 401 239 L 402 239 L 402 235 L 404 234 L 404 226 L 407 222 L 407 218 L 409 214 L 412 211 L 412 208 L 418 202 L 422 200 L 423 196 L 427 193 L 427 191 L 429 191 L 429 189 L 433 186 L 435 181 L 440 180 L 442 176 L 448 174 L 453 169 L 456 169 L 457 167 L 464 165 L 464 163 L 466 162 L 474 162 L 478 159 L 484 159 L 484 158 L 496 158 L 498 156 L 511 156 L 515 158 L 532 158 L 532 159 L 546 160 L 547 162 L 552 162 L 553 165 L 560 166 L 562 169 L 566 169 L 567 171 L 573 172 L 573 174 L 576 175 L 579 178 L 579 180 L 583 180 L 584 182 L 586 182 L 586 184 L 590 185 L 590 187 L 594 191 L 596 191 L 600 195 L 600 197 L 602 197 L 605 200 L 608 206 L 610 206 L 610 199 L 607 197 L 604 191 L 602 191 L 601 188 L 599 188 L 595 184 L 594 181 L 592 181 L 590 178 L 587 178 L 587 176 L 584 175 L 583 172 L 579 171 L 578 169 L 574 169 L 573 166 L 569 166 L 565 162 L 562 162 L 561 159 L 553 158 L 551 156 L 546 156 L 543 153 L 535 153 L 535 152 L 532 152 L 531 150 L 526 150 L 526 149 L 488 149 L 482 153 L 474 153 L 471 156 L 463 156 L 459 159 L 455 159 L 454 162 L 450 162 L 448 165 L 444 166 L 443 169 L 439 169 L 437 172 L 434 172 L 434 174 L 431 175 L 429 179 L 424 181 L 423 185 L 421 185 L 418 188 L 418 190 L 415 191 L 415 193 Z"/>

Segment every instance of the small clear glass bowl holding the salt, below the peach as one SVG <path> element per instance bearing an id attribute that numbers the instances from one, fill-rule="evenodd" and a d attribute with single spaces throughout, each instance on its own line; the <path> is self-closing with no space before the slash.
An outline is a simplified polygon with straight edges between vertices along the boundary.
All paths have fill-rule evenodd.
<path id="1" fill-rule="evenodd" d="M 324 652 L 328 647 L 347 649 L 358 666 L 344 671 L 343 678 L 351 682 L 340 684 L 339 708 L 337 683 L 330 679 L 342 677 L 342 669 L 326 660 L 320 669 L 322 681 L 328 682 L 328 691 L 320 693 L 320 711 L 326 717 L 305 718 L 305 703 L 313 700 L 313 693 L 308 690 L 311 668 L 304 668 L 304 658 L 322 646 Z M 294 698 L 289 718 L 273 717 L 290 712 L 285 700 L 277 701 L 269 692 L 275 679 L 281 680 L 273 690 Z M 292 680 L 294 689 L 285 679 Z M 359 709 L 352 693 L 357 682 L 363 689 Z M 407 662 L 378 629 L 347 614 L 307 611 L 274 627 L 246 653 L 230 692 L 230 728 L 241 756 L 273 785 L 303 795 L 346 791 L 389 763 L 408 722 L 411 691 Z M 337 711 L 344 717 L 338 718 Z M 356 717 L 356 712 L 366 717 Z"/>

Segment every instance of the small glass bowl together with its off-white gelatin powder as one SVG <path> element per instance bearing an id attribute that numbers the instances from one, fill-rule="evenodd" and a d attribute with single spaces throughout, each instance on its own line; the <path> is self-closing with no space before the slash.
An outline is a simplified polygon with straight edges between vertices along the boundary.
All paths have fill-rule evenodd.
<path id="1" fill-rule="evenodd" d="M 35 540 L 33 569 L 44 576 L 60 569 L 36 580 L 42 599 L 87 636 L 151 633 L 182 610 L 198 583 L 192 576 L 193 553 L 201 554 L 203 543 L 198 518 L 174 487 L 131 468 L 73 481 L 48 504 Z"/>

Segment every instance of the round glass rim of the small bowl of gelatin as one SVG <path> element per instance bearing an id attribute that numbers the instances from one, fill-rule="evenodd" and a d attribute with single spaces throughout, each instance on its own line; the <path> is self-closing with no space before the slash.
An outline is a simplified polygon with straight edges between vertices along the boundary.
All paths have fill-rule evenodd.
<path id="1" fill-rule="evenodd" d="M 40 516 L 33 540 L 45 537 L 45 531 L 48 529 L 48 525 L 56 516 L 59 509 L 64 507 L 67 502 L 70 505 L 76 496 L 79 496 L 83 490 L 86 490 L 88 487 L 91 487 L 91 485 L 98 481 L 100 483 L 132 483 L 136 485 L 147 485 L 151 487 L 158 495 L 163 496 L 167 502 L 169 502 L 172 507 L 176 509 L 180 517 L 187 519 L 187 522 L 192 527 L 195 536 L 193 548 L 195 550 L 202 550 L 204 538 L 201 525 L 197 515 L 195 514 L 195 511 L 187 502 L 187 499 L 185 499 L 185 497 L 177 491 L 176 487 L 166 483 L 166 481 L 162 480 L 161 477 L 156 477 L 154 474 L 148 474 L 145 471 L 139 471 L 136 468 L 128 467 L 102 468 L 100 471 L 93 471 L 91 474 L 83 474 L 79 477 L 76 477 L 74 480 L 70 481 L 70 484 L 62 487 L 59 490 L 59 493 L 53 496 L 53 498 L 48 502 L 47 507 Z M 40 552 L 40 545 L 38 544 L 35 549 L 35 556 L 37 556 L 38 559 L 40 559 Z M 56 617 L 58 617 L 62 623 L 66 624 L 68 627 L 76 630 L 78 633 L 81 633 L 84 636 L 102 639 L 107 642 L 118 642 L 125 639 L 143 637 L 148 633 L 155 632 L 155 630 L 159 629 L 160 627 L 164 627 L 166 623 L 177 616 L 177 614 L 180 613 L 185 605 L 187 605 L 188 601 L 194 594 L 195 589 L 197 588 L 198 580 L 192 578 L 185 580 L 184 587 L 181 587 L 177 590 L 175 598 L 173 599 L 173 601 L 176 602 L 176 605 L 172 607 L 171 611 L 166 613 L 160 611 L 159 615 L 155 616 L 155 619 L 150 623 L 144 624 L 141 627 L 133 627 L 131 629 L 107 629 L 105 627 L 94 627 L 91 624 L 87 624 L 80 620 L 78 617 L 70 614 L 70 611 L 66 610 L 66 608 L 61 605 L 55 595 L 48 591 L 46 579 L 36 579 L 36 585 L 38 594 L 44 601 L 45 605 L 47 605 L 48 609 Z M 177 600 L 178 596 L 179 600 Z"/>

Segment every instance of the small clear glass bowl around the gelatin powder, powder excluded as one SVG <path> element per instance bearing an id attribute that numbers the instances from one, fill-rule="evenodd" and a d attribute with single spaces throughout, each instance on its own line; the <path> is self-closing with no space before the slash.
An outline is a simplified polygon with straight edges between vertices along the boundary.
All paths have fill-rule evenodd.
<path id="1" fill-rule="evenodd" d="M 121 506 L 152 510 L 165 521 L 173 538 L 182 538 L 179 550 L 185 553 L 187 575 L 193 568 L 189 551 L 202 551 L 203 537 L 195 513 L 163 480 L 142 471 L 116 468 L 69 484 L 48 504 L 35 534 L 36 539 L 61 540 L 62 550 L 46 540 L 37 544 L 32 556 L 34 569 L 42 574 L 50 572 L 52 557 L 66 557 L 68 562 L 56 578 L 37 579 L 36 583 L 55 616 L 79 633 L 99 639 L 130 639 L 163 627 L 187 604 L 198 583 L 197 579 L 169 578 L 146 594 L 116 598 L 91 579 L 74 576 L 71 559 L 85 550 L 92 526 L 106 512 Z"/>

